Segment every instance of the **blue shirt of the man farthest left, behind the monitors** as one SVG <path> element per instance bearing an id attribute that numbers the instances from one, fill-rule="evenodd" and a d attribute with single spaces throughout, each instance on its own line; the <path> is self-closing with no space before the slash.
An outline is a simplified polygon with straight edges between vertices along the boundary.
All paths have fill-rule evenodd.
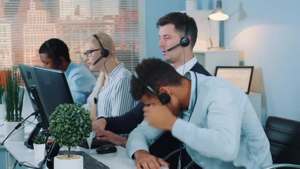
<path id="1" fill-rule="evenodd" d="M 85 104 L 95 86 L 96 78 L 86 67 L 72 61 L 66 70 L 66 77 L 74 102 Z"/>

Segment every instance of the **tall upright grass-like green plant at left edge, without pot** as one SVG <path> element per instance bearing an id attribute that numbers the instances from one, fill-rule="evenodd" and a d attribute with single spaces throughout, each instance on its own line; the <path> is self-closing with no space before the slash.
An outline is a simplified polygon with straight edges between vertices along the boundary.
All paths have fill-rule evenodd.
<path id="1" fill-rule="evenodd" d="M 19 122 L 22 117 L 25 88 L 19 68 L 4 69 L 6 88 L 4 93 L 6 118 L 8 122 Z"/>

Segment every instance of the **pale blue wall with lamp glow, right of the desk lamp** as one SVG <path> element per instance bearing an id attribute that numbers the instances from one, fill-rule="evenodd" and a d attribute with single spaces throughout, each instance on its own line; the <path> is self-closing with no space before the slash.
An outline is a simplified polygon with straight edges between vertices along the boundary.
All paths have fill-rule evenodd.
<path id="1" fill-rule="evenodd" d="M 225 47 L 255 66 L 251 91 L 267 116 L 300 121 L 300 1 L 225 0 Z"/>

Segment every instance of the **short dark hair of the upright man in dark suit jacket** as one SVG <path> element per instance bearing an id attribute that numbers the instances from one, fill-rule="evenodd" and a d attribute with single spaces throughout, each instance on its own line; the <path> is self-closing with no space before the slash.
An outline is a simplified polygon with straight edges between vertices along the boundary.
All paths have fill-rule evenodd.
<path id="1" fill-rule="evenodd" d="M 197 24 L 194 18 L 181 12 L 171 12 L 159 18 L 158 21 L 156 22 L 156 27 L 159 28 L 160 26 L 171 23 L 175 26 L 175 30 L 179 32 L 179 35 L 185 37 L 187 31 L 187 22 L 189 23 L 188 35 L 190 35 L 191 37 L 191 47 L 193 49 L 198 34 Z"/>

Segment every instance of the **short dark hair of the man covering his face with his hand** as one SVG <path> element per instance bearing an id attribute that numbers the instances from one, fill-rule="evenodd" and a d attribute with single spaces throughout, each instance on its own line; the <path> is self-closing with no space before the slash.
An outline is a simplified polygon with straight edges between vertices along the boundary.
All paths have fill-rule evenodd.
<path id="1" fill-rule="evenodd" d="M 166 62 L 160 59 L 145 59 L 135 67 L 138 75 L 131 78 L 131 95 L 135 100 L 140 100 L 142 95 L 153 95 L 146 85 L 159 93 L 159 88 L 163 86 L 181 86 L 182 75 Z M 146 85 L 145 85 L 146 84 Z"/>

